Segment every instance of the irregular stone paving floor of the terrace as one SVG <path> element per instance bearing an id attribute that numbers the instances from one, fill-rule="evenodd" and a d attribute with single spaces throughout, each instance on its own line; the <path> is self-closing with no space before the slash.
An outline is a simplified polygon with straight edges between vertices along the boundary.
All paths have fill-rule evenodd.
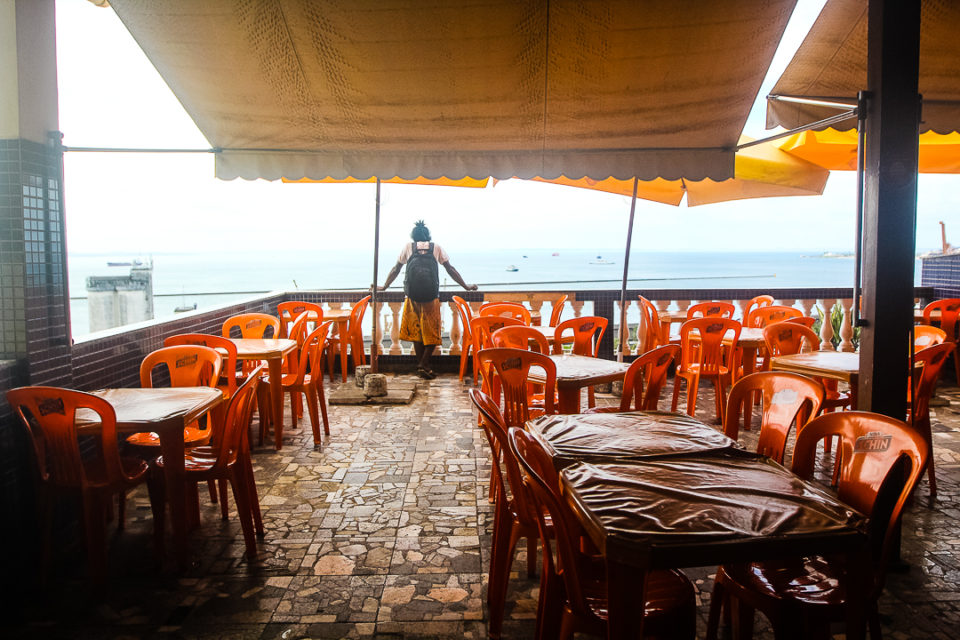
<path id="1" fill-rule="evenodd" d="M 183 574 L 158 568 L 139 490 L 127 529 L 111 530 L 108 593 L 91 594 L 80 547 L 63 549 L 47 586 L 23 594 L 0 636 L 486 637 L 490 462 L 467 388 L 455 376 L 419 381 L 409 406 L 331 407 L 331 436 L 320 448 L 301 423 L 285 430 L 279 453 L 257 449 L 266 536 L 254 562 L 242 557 L 235 512 L 221 521 L 202 494 L 190 567 Z M 903 566 L 890 574 L 881 600 L 888 638 L 960 637 L 960 389 L 944 386 L 939 398 L 940 495 L 931 502 L 924 482 L 906 515 Z M 699 417 L 713 418 L 712 400 L 702 392 Z M 617 399 L 601 395 L 599 402 Z M 520 550 L 504 638 L 533 637 L 538 582 L 524 567 Z M 700 637 L 712 573 L 688 572 L 699 591 Z M 759 618 L 756 637 L 772 637 Z"/>

